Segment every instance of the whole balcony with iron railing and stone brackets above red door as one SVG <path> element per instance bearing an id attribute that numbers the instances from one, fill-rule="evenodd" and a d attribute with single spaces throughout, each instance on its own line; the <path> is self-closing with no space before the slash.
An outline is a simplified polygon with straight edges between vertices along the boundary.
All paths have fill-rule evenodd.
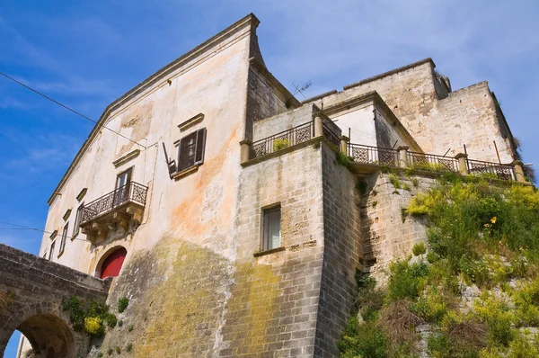
<path id="1" fill-rule="evenodd" d="M 131 182 L 84 205 L 80 223 L 82 232 L 95 244 L 105 240 L 110 230 L 120 227 L 128 231 L 131 221 L 140 224 L 147 191 L 145 185 Z"/>

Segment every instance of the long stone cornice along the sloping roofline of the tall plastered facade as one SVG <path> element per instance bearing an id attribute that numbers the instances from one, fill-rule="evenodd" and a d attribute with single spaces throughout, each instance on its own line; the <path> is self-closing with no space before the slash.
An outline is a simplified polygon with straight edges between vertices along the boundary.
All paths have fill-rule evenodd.
<path id="1" fill-rule="evenodd" d="M 100 132 L 102 125 L 104 125 L 105 122 L 109 119 L 111 113 L 118 111 L 122 106 L 129 103 L 130 101 L 135 100 L 140 95 L 146 94 L 146 91 L 148 91 L 153 85 L 156 85 L 159 81 L 165 81 L 168 76 L 173 75 L 174 71 L 178 71 L 179 69 L 181 69 L 181 67 L 189 65 L 190 62 L 196 61 L 197 58 L 199 58 L 199 60 L 202 60 L 205 54 L 207 54 L 207 57 L 214 56 L 216 52 L 225 49 L 226 46 L 222 45 L 223 42 L 225 42 L 226 40 L 234 40 L 234 35 L 238 34 L 239 31 L 244 31 L 246 27 L 249 27 L 247 31 L 248 34 L 254 33 L 259 23 L 260 21 L 253 13 L 248 14 L 240 21 L 235 22 L 231 26 L 227 27 L 224 31 L 217 33 L 209 40 L 206 40 L 196 48 L 191 49 L 190 51 L 182 55 L 180 58 L 176 58 L 170 64 L 155 72 L 155 74 L 153 74 L 152 76 L 147 77 L 140 84 L 128 91 L 128 93 L 119 97 L 118 100 L 114 101 L 113 103 L 110 103 L 103 111 L 99 121 L 97 121 L 96 125 L 93 127 L 93 130 L 90 132 L 88 139 L 84 141 L 83 146 L 79 149 L 73 162 L 67 168 L 66 173 L 64 174 L 60 182 L 57 184 L 57 187 L 53 192 L 61 192 L 62 187 L 67 181 L 67 178 L 73 173 L 75 167 L 84 156 L 86 149 L 90 146 L 90 144 L 92 144 L 93 139 L 95 139 L 97 134 Z M 208 53 L 209 49 L 211 49 L 212 47 L 216 47 L 217 45 L 221 46 L 215 51 Z M 47 202 L 49 203 L 49 205 L 51 205 L 55 201 L 55 199 L 56 195 L 52 194 Z"/>

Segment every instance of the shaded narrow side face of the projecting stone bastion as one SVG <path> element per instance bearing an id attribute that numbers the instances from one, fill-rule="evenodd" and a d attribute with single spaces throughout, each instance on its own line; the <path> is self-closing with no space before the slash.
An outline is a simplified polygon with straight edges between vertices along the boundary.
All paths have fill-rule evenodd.
<path id="1" fill-rule="evenodd" d="M 315 357 L 339 356 L 338 342 L 356 293 L 361 254 L 358 180 L 323 144 L 323 273 Z"/>

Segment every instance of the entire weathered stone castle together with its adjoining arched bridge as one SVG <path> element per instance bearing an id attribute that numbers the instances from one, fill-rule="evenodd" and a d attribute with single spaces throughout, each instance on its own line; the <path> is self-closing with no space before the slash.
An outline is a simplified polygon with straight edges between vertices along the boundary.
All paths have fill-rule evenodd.
<path id="1" fill-rule="evenodd" d="M 525 181 L 486 82 L 452 91 L 427 58 L 299 102 L 258 24 L 105 109 L 49 199 L 40 257 L 0 246 L 0 352 L 18 329 L 36 357 L 339 356 L 356 273 L 383 282 L 426 237 L 402 219 L 413 195 L 443 171 Z M 394 188 L 387 168 L 420 179 Z M 91 341 L 69 296 L 127 298 L 123 326 Z"/>

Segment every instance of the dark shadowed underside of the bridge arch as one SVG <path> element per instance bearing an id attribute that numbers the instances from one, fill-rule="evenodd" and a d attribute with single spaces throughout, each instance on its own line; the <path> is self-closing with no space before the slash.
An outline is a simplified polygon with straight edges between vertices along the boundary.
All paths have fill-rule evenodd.
<path id="1" fill-rule="evenodd" d="M 36 358 L 75 357 L 75 340 L 66 322 L 51 314 L 26 318 L 17 329 L 31 344 Z"/>

